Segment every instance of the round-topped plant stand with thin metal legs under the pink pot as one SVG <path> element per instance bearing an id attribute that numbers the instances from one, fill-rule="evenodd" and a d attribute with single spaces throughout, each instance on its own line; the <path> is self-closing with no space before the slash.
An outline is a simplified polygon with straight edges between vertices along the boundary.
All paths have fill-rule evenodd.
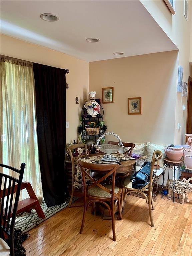
<path id="1" fill-rule="evenodd" d="M 164 185 L 164 174 L 165 174 L 165 168 L 168 167 L 168 179 L 169 179 L 169 170 L 170 168 L 174 171 L 174 175 L 173 175 L 173 203 L 175 202 L 175 171 L 178 169 L 178 171 L 180 170 L 182 164 L 182 160 L 180 161 L 171 161 L 168 158 L 164 158 L 164 162 L 163 162 L 163 184 L 162 184 L 162 196 L 163 197 L 163 185 Z"/>

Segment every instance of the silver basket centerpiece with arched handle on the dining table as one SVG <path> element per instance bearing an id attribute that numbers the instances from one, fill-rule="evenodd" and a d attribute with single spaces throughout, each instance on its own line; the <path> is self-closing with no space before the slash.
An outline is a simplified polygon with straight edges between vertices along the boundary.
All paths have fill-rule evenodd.
<path id="1" fill-rule="evenodd" d="M 112 145 L 112 144 L 101 144 L 99 145 L 100 140 L 105 136 L 105 135 L 114 135 L 115 137 L 118 138 L 119 143 L 117 145 Z M 94 146 L 95 148 L 98 148 L 101 152 L 105 153 L 103 158 L 101 160 L 103 161 L 117 161 L 118 159 L 112 155 L 112 153 L 115 153 L 119 151 L 120 149 L 124 148 L 123 143 L 121 142 L 121 139 L 119 136 L 113 132 L 107 132 L 102 134 L 99 139 L 97 140 L 97 143 Z"/>

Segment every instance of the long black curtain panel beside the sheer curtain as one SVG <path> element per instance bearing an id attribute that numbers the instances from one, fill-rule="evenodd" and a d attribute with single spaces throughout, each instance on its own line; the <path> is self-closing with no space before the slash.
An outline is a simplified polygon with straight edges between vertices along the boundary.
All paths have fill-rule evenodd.
<path id="1" fill-rule="evenodd" d="M 43 196 L 48 207 L 69 196 L 64 173 L 66 145 L 65 69 L 33 63 L 37 139 Z"/>

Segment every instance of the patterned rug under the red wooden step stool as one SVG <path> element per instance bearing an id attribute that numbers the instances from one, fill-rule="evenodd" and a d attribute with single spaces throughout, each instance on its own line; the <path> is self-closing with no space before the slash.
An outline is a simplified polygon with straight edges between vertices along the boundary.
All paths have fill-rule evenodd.
<path id="1" fill-rule="evenodd" d="M 72 202 L 75 202 L 77 199 L 78 197 L 73 197 Z M 28 232 L 32 228 L 38 226 L 40 223 L 42 223 L 43 221 L 53 216 L 55 213 L 67 207 L 69 204 L 69 200 L 70 200 L 70 197 L 66 199 L 66 202 L 64 204 L 52 206 L 49 208 L 47 208 L 47 205 L 45 204 L 45 202 L 42 202 L 40 205 L 45 214 L 44 219 L 39 218 L 37 215 L 37 212 L 34 209 L 32 209 L 31 213 L 24 212 L 21 215 L 16 217 L 15 228 L 21 229 L 22 233 Z"/>

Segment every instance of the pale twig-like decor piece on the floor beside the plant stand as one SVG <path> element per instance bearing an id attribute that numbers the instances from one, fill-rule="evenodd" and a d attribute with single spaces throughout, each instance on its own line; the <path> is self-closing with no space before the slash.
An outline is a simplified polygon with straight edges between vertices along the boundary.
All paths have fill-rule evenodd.
<path id="1" fill-rule="evenodd" d="M 192 178 L 188 180 L 175 180 L 175 193 L 181 195 L 180 197 L 180 203 L 184 204 L 185 202 L 189 202 L 187 194 L 192 192 L 192 184 L 189 183 L 189 181 Z M 173 196 L 173 180 L 169 179 L 167 180 L 167 189 L 168 189 L 168 199 L 171 199 Z"/>

